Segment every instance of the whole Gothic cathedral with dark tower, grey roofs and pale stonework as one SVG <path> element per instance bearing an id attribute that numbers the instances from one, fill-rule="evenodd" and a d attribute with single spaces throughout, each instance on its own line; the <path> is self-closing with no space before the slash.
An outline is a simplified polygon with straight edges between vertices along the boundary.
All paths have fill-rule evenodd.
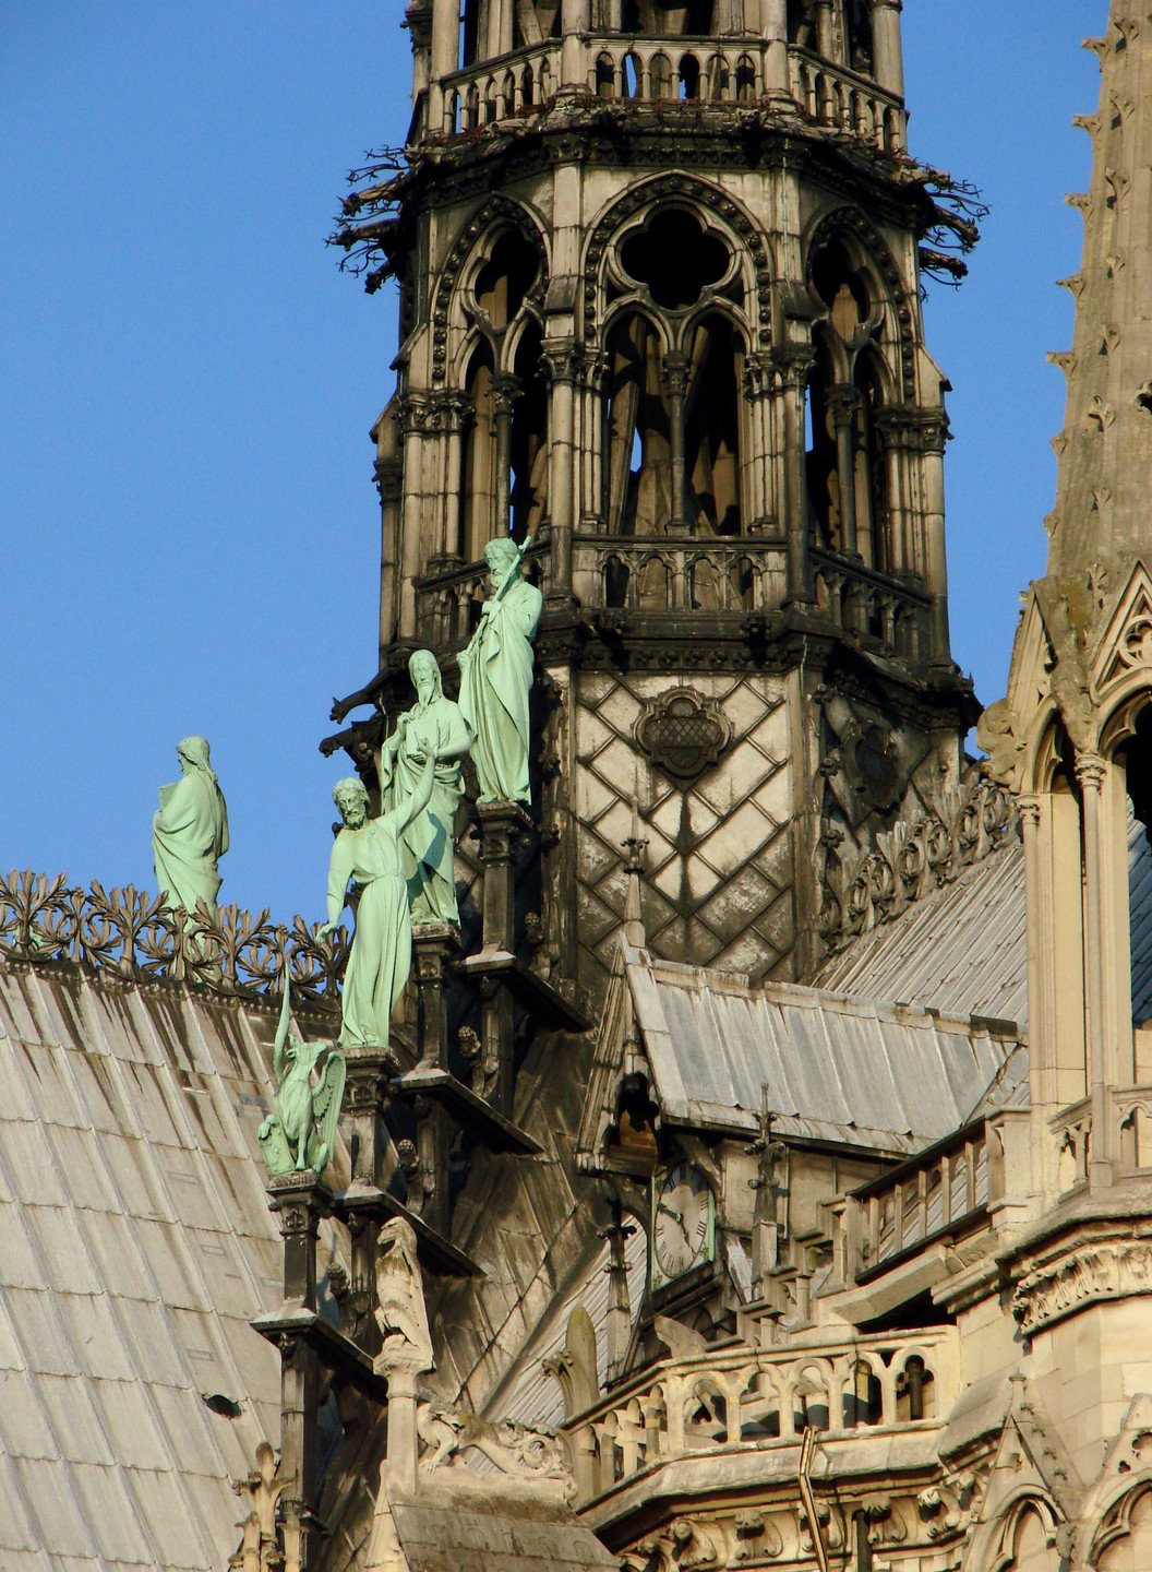
<path id="1" fill-rule="evenodd" d="M 376 1036 L 341 838 L 319 929 L 0 883 L 5 1572 L 1152 1567 L 1152 13 L 1099 5 L 981 711 L 921 308 L 974 204 L 901 0 L 409 0 L 321 747 L 394 855 L 442 717 L 446 833 Z"/>

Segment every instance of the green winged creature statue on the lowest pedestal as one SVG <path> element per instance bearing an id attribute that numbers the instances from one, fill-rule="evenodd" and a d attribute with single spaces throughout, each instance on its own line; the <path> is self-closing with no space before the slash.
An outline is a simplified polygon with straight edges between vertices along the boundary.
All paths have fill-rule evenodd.
<path id="1" fill-rule="evenodd" d="M 291 1174 L 313 1168 L 322 1174 L 336 1144 L 336 1121 L 344 1099 L 344 1055 L 330 1042 L 303 1042 L 288 1030 L 292 1014 L 288 968 L 284 968 L 284 1001 L 272 1045 L 272 1069 L 277 1094 L 272 1113 L 264 1119 L 256 1140 L 269 1174 Z M 313 1071 L 328 1050 L 319 1085 Z M 316 1126 L 319 1124 L 319 1130 Z"/>

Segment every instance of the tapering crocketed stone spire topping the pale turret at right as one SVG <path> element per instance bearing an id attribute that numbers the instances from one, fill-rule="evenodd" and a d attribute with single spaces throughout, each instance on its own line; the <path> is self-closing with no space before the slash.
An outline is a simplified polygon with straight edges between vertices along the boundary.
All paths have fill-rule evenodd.
<path id="1" fill-rule="evenodd" d="M 1069 380 L 1048 575 L 1097 591 L 1127 578 L 1152 545 L 1152 16 L 1113 0 L 1108 31 L 1084 39 L 1100 58 L 1100 107 L 1077 115 L 1092 138 L 1081 269 L 1061 280 L 1077 299 L 1070 354 L 1048 358 Z"/>

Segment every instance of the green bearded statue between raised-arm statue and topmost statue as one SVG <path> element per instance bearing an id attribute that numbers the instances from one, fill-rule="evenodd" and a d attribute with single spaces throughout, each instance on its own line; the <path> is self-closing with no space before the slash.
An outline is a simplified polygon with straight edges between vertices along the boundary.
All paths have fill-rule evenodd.
<path id="1" fill-rule="evenodd" d="M 402 832 L 399 844 L 412 921 L 456 923 L 459 927 L 454 824 L 464 791 L 460 759 L 471 744 L 471 731 L 460 706 L 445 698 L 440 667 L 431 649 L 412 656 L 409 674 L 416 703 L 401 715 L 380 750 L 380 802 L 388 813 L 415 795 L 424 758 L 438 736 L 432 797 Z"/>

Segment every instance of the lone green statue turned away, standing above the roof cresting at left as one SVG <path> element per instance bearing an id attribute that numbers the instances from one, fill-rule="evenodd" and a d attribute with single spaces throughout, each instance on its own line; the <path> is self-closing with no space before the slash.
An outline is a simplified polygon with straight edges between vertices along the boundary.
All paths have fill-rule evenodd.
<path id="1" fill-rule="evenodd" d="M 170 905 L 195 912 L 196 901 L 214 905 L 220 890 L 215 865 L 228 850 L 228 808 L 203 737 L 185 737 L 176 758 L 182 775 L 160 788 L 152 858 L 160 894 Z"/>

